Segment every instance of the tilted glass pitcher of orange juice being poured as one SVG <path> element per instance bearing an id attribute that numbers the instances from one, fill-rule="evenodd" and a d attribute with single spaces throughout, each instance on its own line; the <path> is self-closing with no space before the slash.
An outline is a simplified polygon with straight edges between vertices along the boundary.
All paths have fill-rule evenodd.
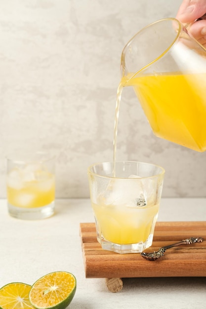
<path id="1" fill-rule="evenodd" d="M 206 151 L 206 49 L 178 20 L 159 20 L 130 39 L 121 71 L 156 136 Z"/>

